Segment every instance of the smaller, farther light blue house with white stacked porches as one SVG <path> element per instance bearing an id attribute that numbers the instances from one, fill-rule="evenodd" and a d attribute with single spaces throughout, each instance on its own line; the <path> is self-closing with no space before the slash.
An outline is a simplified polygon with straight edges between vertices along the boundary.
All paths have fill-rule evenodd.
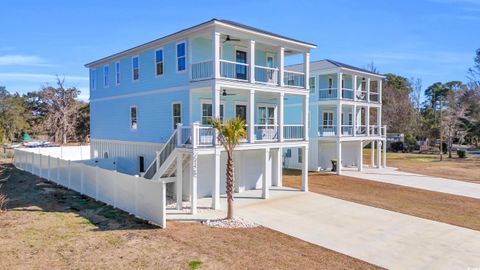
<path id="1" fill-rule="evenodd" d="M 303 67 L 287 68 L 299 71 Z M 381 167 L 382 163 L 385 166 L 386 131 L 381 123 L 383 78 L 337 61 L 310 63 L 310 170 L 331 170 L 332 160 L 338 163 L 338 174 L 342 167 L 362 170 L 362 150 L 368 144 L 372 146 L 371 165 L 375 165 L 376 159 L 377 166 Z M 285 106 L 300 105 L 287 102 Z M 285 149 L 284 166 L 300 168 L 306 155 L 302 150 Z"/>

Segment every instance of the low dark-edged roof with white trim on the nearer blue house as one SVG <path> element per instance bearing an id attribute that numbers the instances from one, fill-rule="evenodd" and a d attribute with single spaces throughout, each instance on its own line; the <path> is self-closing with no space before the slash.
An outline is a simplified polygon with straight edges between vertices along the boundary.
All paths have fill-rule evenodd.
<path id="1" fill-rule="evenodd" d="M 257 33 L 260 33 L 260 34 L 269 35 L 269 36 L 272 36 L 272 37 L 284 39 L 284 40 L 287 40 L 287 41 L 291 41 L 291 42 L 295 42 L 295 43 L 301 43 L 302 45 L 308 46 L 308 47 L 313 47 L 313 48 L 315 48 L 315 47 L 317 46 L 317 45 L 312 44 L 312 43 L 308 43 L 308 42 L 300 41 L 300 40 L 297 40 L 297 39 L 289 38 L 289 37 L 286 37 L 286 36 L 278 35 L 278 34 L 275 34 L 275 33 L 269 32 L 269 31 L 265 31 L 265 30 L 262 30 L 262 29 L 259 29 L 259 28 L 251 27 L 251 26 L 248 26 L 248 25 L 244 25 L 244 24 L 241 24 L 241 23 L 234 22 L 234 21 L 224 20 L 224 19 L 215 19 L 215 18 L 213 18 L 213 19 L 211 19 L 211 20 L 209 20 L 209 21 L 206 21 L 206 22 L 203 22 L 203 23 L 194 25 L 194 26 L 192 26 L 192 27 L 188 27 L 188 28 L 182 29 L 182 30 L 180 30 L 180 31 L 177 31 L 177 32 L 175 32 L 175 33 L 173 33 L 173 34 L 163 36 L 163 37 L 161 37 L 161 38 L 158 38 L 158 39 L 149 41 L 149 42 L 147 42 L 147 43 L 143 43 L 143 44 L 141 44 L 141 45 L 139 45 L 139 46 L 136 46 L 136 47 L 127 49 L 127 50 L 125 50 L 125 51 L 121 51 L 121 52 L 119 52 L 119 53 L 115 53 L 115 54 L 112 54 L 112 55 L 110 55 L 110 56 L 101 58 L 101 59 L 99 59 L 99 60 L 90 62 L 90 63 L 88 63 L 88 64 L 85 64 L 85 67 L 90 67 L 90 66 L 93 66 L 93 65 L 97 65 L 97 64 L 99 64 L 99 63 L 102 63 L 102 62 L 104 62 L 104 61 L 110 60 L 110 59 L 112 59 L 112 58 L 116 58 L 116 57 L 119 57 L 119 56 L 122 56 L 122 55 L 126 55 L 126 54 L 133 53 L 133 52 L 135 52 L 135 51 L 139 51 L 139 50 L 146 49 L 146 48 L 148 48 L 148 47 L 150 47 L 150 46 L 153 46 L 153 45 L 155 45 L 155 44 L 157 44 L 157 43 L 161 43 L 161 42 L 163 42 L 163 41 L 166 41 L 166 40 L 168 40 L 169 38 L 173 38 L 173 37 L 175 37 L 175 36 L 180 36 L 180 35 L 183 35 L 183 34 L 187 34 L 187 33 L 189 33 L 189 32 L 192 32 L 192 31 L 195 31 L 195 30 L 204 28 L 204 27 L 208 27 L 208 26 L 213 25 L 213 24 L 220 24 L 220 25 L 221 25 L 221 24 L 225 24 L 225 25 L 232 26 L 232 27 L 238 27 L 238 28 L 242 28 L 242 29 L 245 29 L 245 30 L 257 32 Z"/>

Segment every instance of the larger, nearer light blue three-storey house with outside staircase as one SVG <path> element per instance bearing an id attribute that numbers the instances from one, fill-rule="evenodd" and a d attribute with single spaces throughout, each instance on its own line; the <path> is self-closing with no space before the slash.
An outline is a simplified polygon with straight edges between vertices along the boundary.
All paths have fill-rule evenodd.
<path id="1" fill-rule="evenodd" d="M 211 118 L 245 119 L 248 138 L 235 153 L 236 189 L 282 185 L 282 149 L 308 156 L 309 52 L 315 45 L 212 19 L 86 65 L 90 69 L 92 158 L 117 170 L 171 182 L 177 202 L 225 192 L 226 155 Z M 284 68 L 302 56 L 304 69 Z M 302 101 L 284 123 L 284 100 Z M 303 167 L 307 189 L 308 160 Z M 181 204 L 178 204 L 181 205 Z"/>

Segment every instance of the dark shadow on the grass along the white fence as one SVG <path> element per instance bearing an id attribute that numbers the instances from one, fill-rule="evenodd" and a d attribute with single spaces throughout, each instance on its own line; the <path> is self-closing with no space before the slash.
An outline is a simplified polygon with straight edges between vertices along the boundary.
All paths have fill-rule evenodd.
<path id="1" fill-rule="evenodd" d="M 8 211 L 74 213 L 100 231 L 158 228 L 125 211 L 19 170 L 11 163 L 0 162 L 0 185 L 8 197 Z"/>

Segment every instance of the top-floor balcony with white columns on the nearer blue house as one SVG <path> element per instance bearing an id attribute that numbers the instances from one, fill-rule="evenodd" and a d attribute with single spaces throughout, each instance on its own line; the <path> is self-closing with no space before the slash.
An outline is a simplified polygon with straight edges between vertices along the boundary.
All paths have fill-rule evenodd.
<path id="1" fill-rule="evenodd" d="M 192 81 L 225 79 L 270 86 L 307 88 L 308 70 L 286 70 L 285 58 L 309 53 L 256 40 L 213 32 L 192 38 L 190 78 Z"/>

